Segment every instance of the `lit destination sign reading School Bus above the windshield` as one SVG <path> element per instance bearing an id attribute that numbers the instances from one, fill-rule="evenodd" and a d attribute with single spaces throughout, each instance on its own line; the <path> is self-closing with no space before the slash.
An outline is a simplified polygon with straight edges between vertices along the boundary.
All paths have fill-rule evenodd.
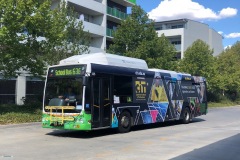
<path id="1" fill-rule="evenodd" d="M 49 69 L 48 77 L 81 76 L 85 71 L 85 65 L 54 67 Z"/>

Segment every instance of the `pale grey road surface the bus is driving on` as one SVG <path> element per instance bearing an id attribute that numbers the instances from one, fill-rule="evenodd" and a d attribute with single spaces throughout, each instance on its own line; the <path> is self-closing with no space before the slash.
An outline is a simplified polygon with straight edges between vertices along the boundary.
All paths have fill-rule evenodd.
<path id="1" fill-rule="evenodd" d="M 130 133 L 0 125 L 0 160 L 240 160 L 240 106 L 210 109 L 190 124 L 134 127 Z"/>

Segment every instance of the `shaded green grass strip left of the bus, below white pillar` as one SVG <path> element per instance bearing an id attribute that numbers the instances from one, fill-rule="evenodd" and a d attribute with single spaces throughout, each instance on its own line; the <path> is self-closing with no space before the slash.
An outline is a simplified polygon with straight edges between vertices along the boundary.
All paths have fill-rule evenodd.
<path id="1" fill-rule="evenodd" d="M 40 122 L 41 104 L 0 105 L 0 125 Z"/>

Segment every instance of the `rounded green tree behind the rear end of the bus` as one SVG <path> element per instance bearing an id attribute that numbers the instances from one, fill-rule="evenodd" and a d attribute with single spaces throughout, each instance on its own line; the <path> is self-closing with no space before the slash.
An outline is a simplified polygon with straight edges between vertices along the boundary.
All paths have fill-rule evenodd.
<path id="1" fill-rule="evenodd" d="M 208 90 L 213 91 L 219 85 L 213 50 L 202 40 L 197 40 L 187 48 L 180 62 L 180 70 L 207 79 Z"/>

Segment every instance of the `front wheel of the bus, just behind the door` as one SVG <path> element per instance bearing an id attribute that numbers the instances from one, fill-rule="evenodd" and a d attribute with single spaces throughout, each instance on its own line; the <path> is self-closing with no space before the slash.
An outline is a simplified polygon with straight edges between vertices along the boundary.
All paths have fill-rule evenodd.
<path id="1" fill-rule="evenodd" d="M 131 128 L 131 115 L 129 112 L 124 111 L 121 113 L 118 121 L 118 131 L 120 133 L 129 132 Z"/>

